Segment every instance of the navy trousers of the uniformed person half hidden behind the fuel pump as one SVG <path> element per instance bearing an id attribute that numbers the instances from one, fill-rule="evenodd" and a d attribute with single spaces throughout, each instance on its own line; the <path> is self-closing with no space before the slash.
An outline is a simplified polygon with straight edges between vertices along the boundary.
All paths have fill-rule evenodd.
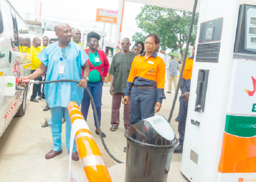
<path id="1" fill-rule="evenodd" d="M 179 138 L 180 145 L 183 145 L 183 142 L 184 142 L 187 113 L 188 113 L 188 104 L 183 99 L 183 97 L 180 96 L 180 111 L 178 115 L 178 122 L 179 122 L 178 132 L 180 134 L 180 138 Z"/>

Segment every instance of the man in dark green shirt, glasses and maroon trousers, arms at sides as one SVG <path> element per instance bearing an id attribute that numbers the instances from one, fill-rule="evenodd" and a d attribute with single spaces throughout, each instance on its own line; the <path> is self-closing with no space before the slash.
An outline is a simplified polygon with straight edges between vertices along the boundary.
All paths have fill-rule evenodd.
<path id="1" fill-rule="evenodd" d="M 131 70 L 131 63 L 137 54 L 129 51 L 131 46 L 130 39 L 124 38 L 121 41 L 122 52 L 114 55 L 108 73 L 111 74 L 110 94 L 112 95 L 111 109 L 111 131 L 116 131 L 119 126 L 119 110 L 124 97 L 127 79 Z M 130 126 L 130 102 L 124 106 L 124 125 L 125 128 Z"/>

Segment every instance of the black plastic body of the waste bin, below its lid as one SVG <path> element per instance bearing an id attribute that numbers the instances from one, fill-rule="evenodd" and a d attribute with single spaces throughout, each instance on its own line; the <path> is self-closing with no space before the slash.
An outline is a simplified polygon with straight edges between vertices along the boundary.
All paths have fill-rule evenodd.
<path id="1" fill-rule="evenodd" d="M 151 148 L 127 139 L 125 182 L 166 182 L 174 148 Z"/>

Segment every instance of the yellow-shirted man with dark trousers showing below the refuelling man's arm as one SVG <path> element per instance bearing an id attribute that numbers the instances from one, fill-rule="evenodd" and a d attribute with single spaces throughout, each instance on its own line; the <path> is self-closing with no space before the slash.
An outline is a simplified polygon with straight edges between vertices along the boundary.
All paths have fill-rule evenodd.
<path id="1" fill-rule="evenodd" d="M 37 68 L 40 67 L 41 61 L 38 59 L 38 54 L 41 52 L 41 40 L 38 37 L 35 37 L 33 39 L 33 45 L 32 45 L 32 63 L 31 63 L 31 73 L 34 73 Z M 43 81 L 42 77 L 36 78 L 35 80 Z M 42 98 L 42 92 L 41 92 L 41 84 L 33 84 L 33 92 L 30 98 L 30 101 L 32 102 L 39 102 L 35 99 L 35 97 L 38 96 L 38 100 L 41 100 Z"/>

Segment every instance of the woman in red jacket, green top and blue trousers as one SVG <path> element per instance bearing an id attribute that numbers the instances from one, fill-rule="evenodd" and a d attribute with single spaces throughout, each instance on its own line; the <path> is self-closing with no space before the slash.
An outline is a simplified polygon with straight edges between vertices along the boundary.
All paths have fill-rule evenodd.
<path id="1" fill-rule="evenodd" d="M 101 123 L 101 103 L 102 103 L 102 86 L 105 77 L 108 74 L 109 63 L 107 56 L 104 51 L 98 50 L 99 47 L 99 34 L 95 32 L 90 32 L 87 35 L 87 43 L 89 44 L 89 48 L 85 49 L 85 52 L 89 56 L 89 60 L 87 60 L 90 74 L 89 81 L 87 82 L 87 88 L 93 95 L 93 99 L 96 105 L 97 115 L 99 118 L 99 125 Z M 103 68 L 103 71 L 102 71 Z M 81 102 L 81 112 L 84 116 L 84 119 L 87 120 L 88 110 L 90 107 L 90 97 L 87 91 L 84 90 L 84 97 Z M 99 128 L 97 128 L 97 123 L 95 119 L 95 113 L 93 111 L 94 124 L 96 127 L 96 134 L 99 134 Z M 102 133 L 102 137 L 106 137 L 104 133 Z"/>

